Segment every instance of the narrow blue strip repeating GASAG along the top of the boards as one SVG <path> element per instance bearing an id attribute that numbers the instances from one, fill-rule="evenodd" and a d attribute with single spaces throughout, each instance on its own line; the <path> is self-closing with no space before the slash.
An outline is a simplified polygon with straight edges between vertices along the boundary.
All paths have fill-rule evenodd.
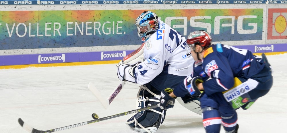
<path id="1" fill-rule="evenodd" d="M 268 4 L 287 3 L 285 0 L 4 0 L 0 5 L 67 5 L 67 4 Z"/>

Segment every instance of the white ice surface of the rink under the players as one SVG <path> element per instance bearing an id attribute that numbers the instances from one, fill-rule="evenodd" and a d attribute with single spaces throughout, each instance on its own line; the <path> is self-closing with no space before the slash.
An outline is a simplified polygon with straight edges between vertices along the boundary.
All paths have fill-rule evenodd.
<path id="1" fill-rule="evenodd" d="M 239 133 L 283 133 L 287 125 L 287 54 L 268 55 L 274 84 L 248 110 L 237 110 Z M 49 130 L 135 109 L 138 85 L 127 83 L 108 109 L 88 90 L 92 82 L 104 98 L 119 83 L 115 64 L 0 70 L 0 132 L 28 133 L 22 118 L 39 130 Z M 121 116 L 59 133 L 134 133 Z M 178 102 L 168 109 L 157 133 L 205 133 L 201 116 Z M 224 133 L 224 130 L 221 130 Z"/>

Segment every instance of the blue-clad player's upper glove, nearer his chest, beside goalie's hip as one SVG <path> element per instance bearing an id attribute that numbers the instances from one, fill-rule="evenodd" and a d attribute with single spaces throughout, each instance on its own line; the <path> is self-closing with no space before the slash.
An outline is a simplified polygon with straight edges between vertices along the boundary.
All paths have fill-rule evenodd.
<path id="1" fill-rule="evenodd" d="M 191 96 L 199 96 L 203 92 L 203 91 L 200 91 L 196 86 L 199 83 L 203 83 L 203 80 L 201 77 L 197 76 L 197 77 L 193 77 L 192 79 L 187 78 L 186 89 Z"/>

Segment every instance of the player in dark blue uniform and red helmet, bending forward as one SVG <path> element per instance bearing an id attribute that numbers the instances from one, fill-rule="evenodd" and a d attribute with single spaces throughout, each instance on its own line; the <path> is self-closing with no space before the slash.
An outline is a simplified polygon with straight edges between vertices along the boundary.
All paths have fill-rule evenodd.
<path id="1" fill-rule="evenodd" d="M 206 31 L 194 31 L 188 36 L 187 44 L 195 64 L 200 61 L 202 64 L 198 65 L 201 69 L 193 69 L 193 76 L 186 78 L 181 86 L 186 86 L 193 96 L 200 95 L 206 133 L 219 133 L 221 125 L 226 133 L 237 133 L 236 110 L 248 109 L 269 92 L 273 84 L 272 70 L 264 54 L 258 58 L 247 49 L 211 42 Z M 162 92 L 161 106 L 174 97 L 172 93 Z"/>

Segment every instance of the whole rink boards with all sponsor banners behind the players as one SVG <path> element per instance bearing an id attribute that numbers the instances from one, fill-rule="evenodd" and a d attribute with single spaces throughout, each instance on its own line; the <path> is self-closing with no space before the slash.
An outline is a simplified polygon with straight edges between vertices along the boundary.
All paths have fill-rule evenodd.
<path id="1" fill-rule="evenodd" d="M 135 19 L 157 13 L 182 35 L 256 53 L 287 49 L 286 1 L 0 1 L 0 69 L 117 63 L 141 44 Z"/>

